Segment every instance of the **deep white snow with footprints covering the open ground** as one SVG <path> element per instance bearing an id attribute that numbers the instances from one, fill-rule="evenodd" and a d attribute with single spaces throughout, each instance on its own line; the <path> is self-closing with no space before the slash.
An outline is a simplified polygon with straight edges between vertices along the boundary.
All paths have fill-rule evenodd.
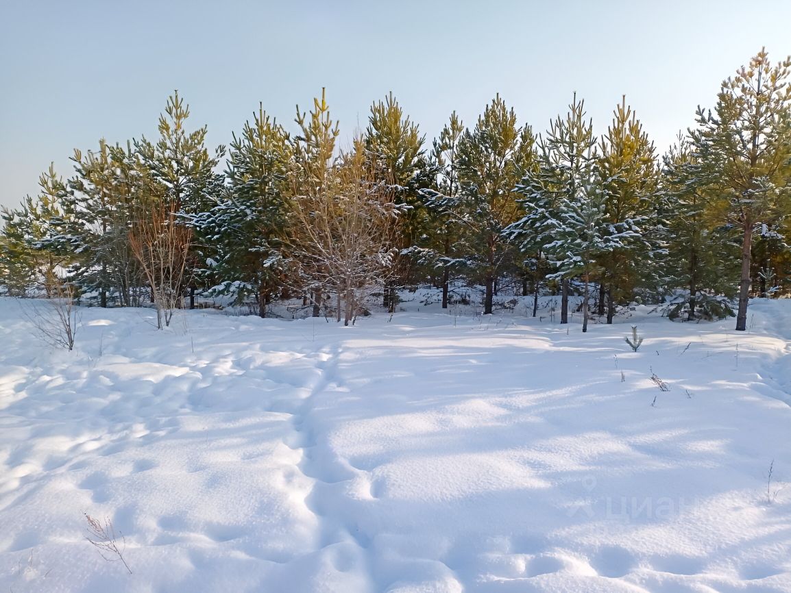
<path id="1" fill-rule="evenodd" d="M 87 308 L 68 353 L 0 300 L 0 591 L 791 591 L 791 300 L 403 309 Z"/>

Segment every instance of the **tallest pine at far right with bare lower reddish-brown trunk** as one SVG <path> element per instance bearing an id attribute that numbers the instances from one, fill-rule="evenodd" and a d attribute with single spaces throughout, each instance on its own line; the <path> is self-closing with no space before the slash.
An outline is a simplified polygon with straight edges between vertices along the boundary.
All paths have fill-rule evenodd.
<path id="1" fill-rule="evenodd" d="M 742 235 L 736 330 L 747 329 L 752 238 L 788 210 L 791 178 L 791 57 L 773 65 L 762 49 L 723 81 L 714 115 L 698 108 L 690 130 L 703 185 L 717 184 L 721 211 Z"/>

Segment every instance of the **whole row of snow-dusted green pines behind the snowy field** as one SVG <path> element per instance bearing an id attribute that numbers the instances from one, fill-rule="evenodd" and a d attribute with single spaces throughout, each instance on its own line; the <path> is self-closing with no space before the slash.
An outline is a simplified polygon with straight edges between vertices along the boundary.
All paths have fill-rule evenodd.
<path id="1" fill-rule="evenodd" d="M 447 308 L 464 282 L 488 314 L 510 284 L 533 315 L 539 293 L 559 293 L 561 323 L 581 293 L 583 330 L 589 307 L 612 323 L 670 295 L 672 317 L 698 319 L 737 297 L 744 330 L 748 298 L 791 283 L 789 71 L 760 51 L 662 156 L 625 98 L 597 137 L 576 95 L 540 134 L 497 95 L 427 142 L 390 93 L 341 149 L 324 91 L 297 107 L 296 134 L 259 106 L 211 152 L 176 92 L 158 138 L 75 149 L 70 177 L 51 166 L 39 195 L 2 210 L 0 286 L 152 302 L 161 327 L 200 293 L 262 316 L 301 297 L 348 324 L 371 293 L 392 310 L 398 289 L 431 283 Z"/>

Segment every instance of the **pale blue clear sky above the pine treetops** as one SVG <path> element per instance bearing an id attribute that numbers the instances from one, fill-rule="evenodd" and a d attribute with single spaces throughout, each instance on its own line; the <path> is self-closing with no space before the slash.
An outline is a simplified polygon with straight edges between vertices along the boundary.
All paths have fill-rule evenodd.
<path id="1" fill-rule="evenodd" d="M 546 130 L 573 93 L 596 134 L 622 95 L 657 153 L 761 47 L 791 54 L 791 2 L 118 2 L 0 0 L 0 205 L 36 195 L 74 148 L 155 138 L 178 89 L 192 127 L 228 144 L 259 101 L 293 131 L 327 89 L 343 142 L 395 94 L 426 142 L 495 93 Z"/>

